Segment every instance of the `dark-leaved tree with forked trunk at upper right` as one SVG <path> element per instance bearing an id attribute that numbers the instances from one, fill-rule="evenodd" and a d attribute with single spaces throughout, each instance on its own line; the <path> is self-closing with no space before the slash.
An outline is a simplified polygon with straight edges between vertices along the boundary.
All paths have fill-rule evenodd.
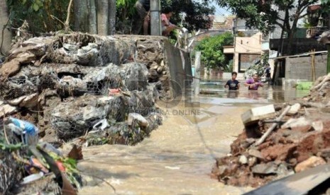
<path id="1" fill-rule="evenodd" d="M 248 28 L 256 28 L 268 34 L 275 29 L 275 25 L 280 26 L 289 37 L 287 54 L 290 54 L 298 20 L 307 15 L 304 11 L 308 6 L 317 3 L 317 0 L 217 0 L 217 2 L 219 6 L 231 8 L 238 18 L 245 19 Z"/>

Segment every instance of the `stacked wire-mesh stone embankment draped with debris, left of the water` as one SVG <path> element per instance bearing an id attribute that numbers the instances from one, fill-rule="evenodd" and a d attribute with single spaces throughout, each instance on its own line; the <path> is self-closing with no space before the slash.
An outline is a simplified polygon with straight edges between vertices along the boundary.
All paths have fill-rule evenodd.
<path id="1" fill-rule="evenodd" d="M 0 66 L 0 118 L 32 122 L 50 143 L 135 144 L 161 123 L 155 100 L 170 98 L 161 41 L 73 33 L 16 44 Z"/>

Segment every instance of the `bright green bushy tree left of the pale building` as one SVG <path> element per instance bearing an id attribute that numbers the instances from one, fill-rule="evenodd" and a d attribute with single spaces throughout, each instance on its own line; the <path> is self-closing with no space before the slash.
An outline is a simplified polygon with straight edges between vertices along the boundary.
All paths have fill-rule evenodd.
<path id="1" fill-rule="evenodd" d="M 195 51 L 201 51 L 201 60 L 208 69 L 226 68 L 228 59 L 224 55 L 224 46 L 233 45 L 233 35 L 231 32 L 214 37 L 207 37 L 195 47 Z"/>

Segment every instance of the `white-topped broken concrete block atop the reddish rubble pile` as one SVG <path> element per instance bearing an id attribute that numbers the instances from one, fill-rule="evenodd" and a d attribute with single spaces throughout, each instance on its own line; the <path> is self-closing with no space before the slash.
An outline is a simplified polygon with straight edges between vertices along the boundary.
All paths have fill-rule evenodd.
<path id="1" fill-rule="evenodd" d="M 245 126 L 255 124 L 260 119 L 267 119 L 270 117 L 275 117 L 275 107 L 274 105 L 266 105 L 261 107 L 253 107 L 251 110 L 244 112 L 241 115 L 242 122 Z"/>

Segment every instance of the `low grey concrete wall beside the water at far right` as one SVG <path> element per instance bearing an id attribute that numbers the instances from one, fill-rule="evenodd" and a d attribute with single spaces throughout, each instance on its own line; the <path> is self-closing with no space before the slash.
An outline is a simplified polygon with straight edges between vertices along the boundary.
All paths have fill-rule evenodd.
<path id="1" fill-rule="evenodd" d="M 326 75 L 326 55 L 315 56 L 315 77 Z M 312 81 L 312 57 L 287 58 L 285 81 Z"/>

